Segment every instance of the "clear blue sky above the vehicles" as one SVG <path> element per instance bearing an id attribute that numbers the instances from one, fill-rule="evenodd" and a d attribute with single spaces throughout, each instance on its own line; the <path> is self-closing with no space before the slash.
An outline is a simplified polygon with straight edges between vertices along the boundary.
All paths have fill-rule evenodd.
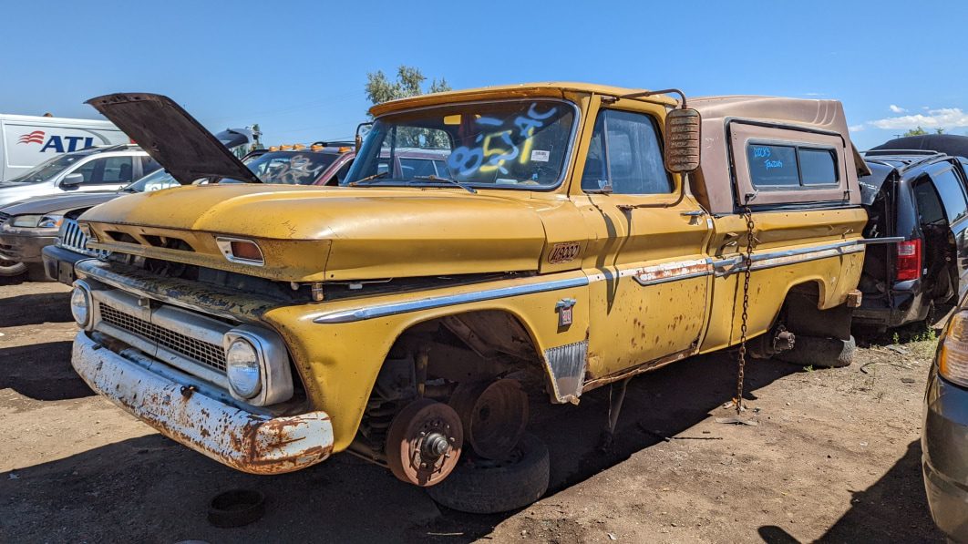
<path id="1" fill-rule="evenodd" d="M 368 72 L 454 88 L 577 80 L 844 103 L 861 148 L 968 134 L 966 2 L 9 2 L 0 112 L 166 94 L 267 143 L 352 135 Z"/>

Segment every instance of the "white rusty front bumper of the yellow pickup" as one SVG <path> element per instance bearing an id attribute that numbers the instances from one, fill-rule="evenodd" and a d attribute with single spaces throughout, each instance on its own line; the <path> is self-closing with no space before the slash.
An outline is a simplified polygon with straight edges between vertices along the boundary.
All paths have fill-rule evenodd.
<path id="1" fill-rule="evenodd" d="M 315 465 L 333 449 L 333 426 L 322 411 L 272 417 L 230 404 L 230 397 L 191 391 L 177 371 L 144 357 L 128 358 L 84 331 L 72 364 L 92 389 L 163 435 L 231 468 L 254 474 Z M 206 391 L 207 392 L 207 391 Z"/>

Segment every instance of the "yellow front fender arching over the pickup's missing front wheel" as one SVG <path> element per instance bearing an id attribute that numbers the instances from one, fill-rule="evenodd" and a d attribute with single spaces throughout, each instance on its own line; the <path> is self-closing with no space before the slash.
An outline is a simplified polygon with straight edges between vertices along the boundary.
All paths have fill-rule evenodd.
<path id="1" fill-rule="evenodd" d="M 573 279 L 572 287 L 555 282 Z M 505 287 L 522 294 L 484 300 L 463 295 Z M 503 292 L 503 291 L 501 291 Z M 511 289 L 508 292 L 515 292 Z M 453 304 L 442 304 L 452 297 Z M 479 298 L 479 297 L 478 297 Z M 460 302 L 463 300 L 469 302 Z M 559 327 L 557 305 L 576 301 L 570 326 Z M 325 410 L 333 421 L 334 450 L 342 451 L 356 435 L 379 370 L 394 342 L 410 327 L 438 317 L 482 310 L 502 311 L 517 317 L 533 346 L 544 357 L 551 348 L 578 345 L 588 335 L 588 281 L 584 274 L 568 273 L 505 280 L 473 286 L 446 287 L 421 293 L 381 295 L 312 305 L 287 306 L 267 311 L 262 320 L 287 342 L 296 370 L 303 378 L 314 409 Z M 367 309 L 395 308 L 399 312 L 367 313 Z M 336 322 L 317 322 L 320 317 L 344 315 Z M 546 371 L 548 366 L 545 365 Z"/>

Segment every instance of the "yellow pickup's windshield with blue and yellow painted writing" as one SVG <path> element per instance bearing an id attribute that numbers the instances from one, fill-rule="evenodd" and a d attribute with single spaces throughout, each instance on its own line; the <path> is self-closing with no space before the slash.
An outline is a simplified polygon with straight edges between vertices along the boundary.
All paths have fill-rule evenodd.
<path id="1" fill-rule="evenodd" d="M 574 121 L 574 106 L 552 100 L 385 115 L 344 185 L 435 185 L 444 178 L 474 187 L 552 188 L 560 183 Z"/>

